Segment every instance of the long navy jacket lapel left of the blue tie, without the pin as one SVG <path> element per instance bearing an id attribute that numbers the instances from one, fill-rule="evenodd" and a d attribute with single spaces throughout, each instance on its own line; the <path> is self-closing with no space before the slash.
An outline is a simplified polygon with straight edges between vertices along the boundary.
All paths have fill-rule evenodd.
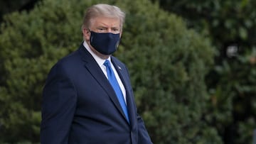
<path id="1" fill-rule="evenodd" d="M 112 88 L 110 82 L 107 80 L 107 77 L 105 77 L 105 74 L 102 72 L 99 65 L 97 65 L 97 62 L 94 60 L 92 55 L 90 55 L 90 52 L 88 52 L 83 45 L 80 46 L 79 50 L 82 60 L 85 62 L 85 68 L 88 70 L 88 72 L 90 72 L 90 74 L 92 74 L 92 77 L 95 78 L 97 83 L 100 84 L 100 86 L 102 87 L 102 89 L 105 90 L 107 95 L 110 96 L 110 99 L 112 100 L 114 105 L 125 118 L 124 112 L 122 111 L 122 107 L 119 104 L 114 89 Z"/>

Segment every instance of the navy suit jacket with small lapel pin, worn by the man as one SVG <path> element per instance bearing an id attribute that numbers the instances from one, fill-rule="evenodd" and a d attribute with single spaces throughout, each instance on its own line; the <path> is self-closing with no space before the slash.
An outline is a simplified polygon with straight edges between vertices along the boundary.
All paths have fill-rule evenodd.
<path id="1" fill-rule="evenodd" d="M 127 122 L 117 96 L 97 62 L 83 45 L 59 60 L 43 89 L 42 144 L 149 144 L 127 67 L 111 57 L 126 89 Z"/>

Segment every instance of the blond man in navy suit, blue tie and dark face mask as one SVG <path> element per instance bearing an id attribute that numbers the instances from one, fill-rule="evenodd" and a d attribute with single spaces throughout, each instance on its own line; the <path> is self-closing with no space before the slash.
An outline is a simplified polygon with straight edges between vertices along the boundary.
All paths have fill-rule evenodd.
<path id="1" fill-rule="evenodd" d="M 43 89 L 42 144 L 149 144 L 137 114 L 127 67 L 112 56 L 124 12 L 97 4 L 87 9 L 84 42 L 59 60 Z"/>

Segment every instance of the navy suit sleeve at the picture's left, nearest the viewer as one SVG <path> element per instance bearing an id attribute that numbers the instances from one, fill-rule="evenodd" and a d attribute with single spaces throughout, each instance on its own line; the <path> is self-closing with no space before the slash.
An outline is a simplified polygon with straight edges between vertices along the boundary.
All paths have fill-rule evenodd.
<path id="1" fill-rule="evenodd" d="M 75 87 L 58 63 L 50 70 L 43 89 L 41 144 L 68 143 L 76 99 Z"/>

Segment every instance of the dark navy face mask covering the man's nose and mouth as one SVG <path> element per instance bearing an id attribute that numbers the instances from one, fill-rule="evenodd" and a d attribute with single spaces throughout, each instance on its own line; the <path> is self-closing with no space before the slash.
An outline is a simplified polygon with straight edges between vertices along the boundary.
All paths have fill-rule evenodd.
<path id="1" fill-rule="evenodd" d="M 90 45 L 103 55 L 111 55 L 117 50 L 120 34 L 95 33 L 90 31 Z"/>

